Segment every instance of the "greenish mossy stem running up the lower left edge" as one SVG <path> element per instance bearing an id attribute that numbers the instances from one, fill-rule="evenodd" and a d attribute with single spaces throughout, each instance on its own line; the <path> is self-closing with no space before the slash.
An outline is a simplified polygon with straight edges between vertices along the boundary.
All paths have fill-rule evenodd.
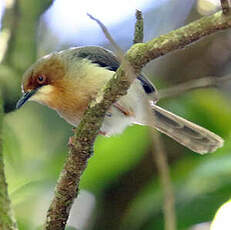
<path id="1" fill-rule="evenodd" d="M 0 97 L 0 229 L 17 230 L 14 220 L 10 199 L 7 191 L 7 183 L 4 172 L 4 162 L 2 153 L 2 122 L 3 122 L 3 103 Z"/>

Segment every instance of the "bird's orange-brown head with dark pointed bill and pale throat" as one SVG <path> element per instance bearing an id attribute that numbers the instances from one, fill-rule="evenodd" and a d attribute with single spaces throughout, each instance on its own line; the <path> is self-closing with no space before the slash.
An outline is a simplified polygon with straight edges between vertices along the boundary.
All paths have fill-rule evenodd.
<path id="1" fill-rule="evenodd" d="M 22 93 L 16 108 L 28 100 L 52 107 L 54 97 L 64 90 L 67 66 L 58 53 L 52 53 L 34 63 L 23 75 Z"/>

